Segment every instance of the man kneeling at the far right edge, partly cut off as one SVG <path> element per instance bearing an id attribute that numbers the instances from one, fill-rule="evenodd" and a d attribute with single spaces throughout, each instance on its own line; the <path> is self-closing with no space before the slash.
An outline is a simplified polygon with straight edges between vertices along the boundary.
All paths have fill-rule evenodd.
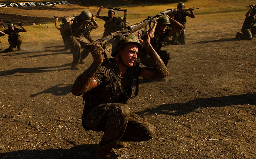
<path id="1" fill-rule="evenodd" d="M 256 34 L 256 26 L 253 26 L 256 23 L 256 7 L 250 5 L 250 10 L 245 14 L 244 24 L 242 26 L 241 32 L 237 32 L 236 39 L 251 40 Z"/>

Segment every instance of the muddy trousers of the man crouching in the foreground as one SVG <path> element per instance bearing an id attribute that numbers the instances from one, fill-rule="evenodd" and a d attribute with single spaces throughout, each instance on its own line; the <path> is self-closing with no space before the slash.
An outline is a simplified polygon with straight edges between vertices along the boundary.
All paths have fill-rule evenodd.
<path id="1" fill-rule="evenodd" d="M 103 131 L 97 155 L 111 152 L 119 141 L 147 141 L 154 136 L 154 127 L 145 118 L 130 112 L 126 104 L 108 103 L 84 108 L 85 130 Z"/>

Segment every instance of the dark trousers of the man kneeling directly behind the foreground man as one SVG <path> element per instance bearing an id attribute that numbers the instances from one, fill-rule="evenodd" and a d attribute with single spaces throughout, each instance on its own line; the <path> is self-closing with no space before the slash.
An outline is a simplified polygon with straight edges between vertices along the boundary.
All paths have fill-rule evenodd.
<path id="1" fill-rule="evenodd" d="M 163 63 L 165 64 L 165 66 L 167 66 L 168 61 L 171 59 L 170 53 L 167 52 L 166 50 L 159 50 L 157 53 L 160 56 L 160 58 L 163 60 Z M 142 55 L 140 57 L 140 63 L 147 67 L 154 67 L 153 62 L 149 57 L 149 55 L 147 56 Z"/>

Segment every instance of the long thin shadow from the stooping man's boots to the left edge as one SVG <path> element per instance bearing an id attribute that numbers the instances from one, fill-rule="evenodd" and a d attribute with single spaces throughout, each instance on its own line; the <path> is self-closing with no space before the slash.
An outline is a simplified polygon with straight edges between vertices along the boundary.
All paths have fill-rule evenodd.
<path id="1" fill-rule="evenodd" d="M 51 71 L 63 71 L 70 68 L 63 68 L 63 69 L 56 69 L 60 67 L 67 67 L 71 66 L 71 64 L 64 64 L 60 66 L 51 66 L 51 67 L 35 67 L 35 68 L 18 68 L 18 69 L 12 69 L 7 71 L 0 71 L 0 76 L 10 76 L 15 73 L 42 73 L 42 72 L 51 72 Z M 51 70 L 46 70 L 51 69 Z"/>

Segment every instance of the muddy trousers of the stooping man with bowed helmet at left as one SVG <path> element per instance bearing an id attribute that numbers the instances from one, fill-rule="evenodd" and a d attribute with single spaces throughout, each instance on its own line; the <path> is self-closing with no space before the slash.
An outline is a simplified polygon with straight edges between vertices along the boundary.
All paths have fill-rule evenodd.
<path id="1" fill-rule="evenodd" d="M 76 37 L 76 36 L 70 36 L 65 39 L 67 40 L 67 43 L 69 44 L 69 48 L 71 48 L 70 52 L 73 54 L 73 62 L 72 67 L 79 64 L 80 61 L 85 59 L 88 55 L 90 50 L 84 48 L 86 44 L 89 44 L 90 42 L 84 37 Z M 81 49 L 84 48 L 84 50 L 81 52 Z"/>

